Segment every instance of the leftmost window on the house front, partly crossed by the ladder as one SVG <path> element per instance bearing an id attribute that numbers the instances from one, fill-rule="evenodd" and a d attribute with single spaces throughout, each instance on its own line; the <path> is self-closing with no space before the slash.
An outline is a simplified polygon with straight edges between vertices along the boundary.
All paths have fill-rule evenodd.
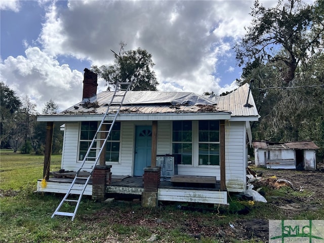
<path id="1" fill-rule="evenodd" d="M 88 148 L 97 132 L 97 121 L 82 121 L 79 142 L 79 160 L 83 160 Z M 96 152 L 91 151 L 89 157 L 96 157 Z M 88 160 L 95 160 L 94 158 Z"/>

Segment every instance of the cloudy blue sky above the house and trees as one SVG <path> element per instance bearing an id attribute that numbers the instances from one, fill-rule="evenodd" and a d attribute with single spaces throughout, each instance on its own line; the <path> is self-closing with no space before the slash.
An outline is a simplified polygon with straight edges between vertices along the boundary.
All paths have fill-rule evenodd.
<path id="1" fill-rule="evenodd" d="M 273 6 L 276 1 L 261 1 Z M 252 0 L 7 1 L 1 8 L 0 80 L 40 112 L 82 100 L 84 68 L 110 65 L 110 49 L 152 54 L 159 91 L 220 94 L 241 68 L 232 50 L 251 21 Z M 99 91 L 105 90 L 99 80 Z"/>

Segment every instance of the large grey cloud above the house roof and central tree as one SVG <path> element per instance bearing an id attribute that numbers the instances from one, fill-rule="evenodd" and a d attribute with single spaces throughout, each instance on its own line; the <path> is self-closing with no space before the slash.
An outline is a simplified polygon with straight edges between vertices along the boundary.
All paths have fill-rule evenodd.
<path id="1" fill-rule="evenodd" d="M 253 1 L 70 1 L 52 7 L 39 40 L 52 55 L 110 64 L 119 42 L 153 56 L 159 89 L 219 89 L 219 57 L 244 34 Z M 212 34 L 211 34 L 212 33 Z M 224 38 L 227 38 L 225 42 Z M 231 42 L 231 43 L 230 43 Z M 215 88 L 216 87 L 216 88 Z"/>

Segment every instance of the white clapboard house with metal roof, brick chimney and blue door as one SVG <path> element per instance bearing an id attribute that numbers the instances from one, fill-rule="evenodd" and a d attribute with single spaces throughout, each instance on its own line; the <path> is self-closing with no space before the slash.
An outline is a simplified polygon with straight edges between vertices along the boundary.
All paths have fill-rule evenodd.
<path id="1" fill-rule="evenodd" d="M 113 95 L 108 91 L 96 94 L 96 88 L 97 81 L 88 78 L 86 71 L 82 102 L 61 113 L 37 117 L 37 121 L 48 124 L 54 121 L 65 124 L 62 127 L 61 172 L 78 170 Z M 169 186 L 164 186 L 161 182 L 158 200 L 226 204 L 228 191 L 246 189 L 247 141 L 251 144 L 252 140 L 250 121 L 259 118 L 253 96 L 248 94 L 248 84 L 213 99 L 190 92 L 127 92 L 104 155 L 105 165 L 112 166 L 112 178 L 119 178 L 119 181 L 127 177 L 133 180 L 141 178 L 144 168 L 155 163 L 151 160 L 154 152 L 161 155 L 158 161 L 164 161 L 164 155 L 171 158 L 171 178 L 175 174 L 191 179 L 196 176 L 213 177 L 221 184 L 206 189 L 197 184 L 193 187 L 190 183 L 180 183 L 180 187 L 177 183 L 168 182 Z M 106 119 L 111 120 L 115 112 L 112 105 Z M 154 143 L 152 146 L 152 137 L 156 147 Z M 45 161 L 50 162 L 47 156 L 50 155 L 46 155 Z M 39 179 L 37 191 L 65 193 L 69 184 L 67 178 L 50 177 L 47 173 L 50 163 L 45 164 L 47 183 L 44 186 Z M 118 190 L 118 185 L 112 183 L 107 185 L 107 192 L 140 194 L 142 187 L 139 184 Z M 90 184 L 85 194 L 91 193 Z"/>

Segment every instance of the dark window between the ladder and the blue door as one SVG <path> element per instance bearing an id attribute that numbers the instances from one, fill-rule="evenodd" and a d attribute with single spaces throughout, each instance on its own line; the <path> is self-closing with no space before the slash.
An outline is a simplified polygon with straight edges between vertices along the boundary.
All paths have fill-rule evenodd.
<path id="1" fill-rule="evenodd" d="M 107 130 L 110 127 L 107 128 Z M 110 136 L 106 143 L 105 161 L 118 162 L 119 161 L 119 144 L 120 144 L 120 123 L 115 122 L 110 131 Z"/>

